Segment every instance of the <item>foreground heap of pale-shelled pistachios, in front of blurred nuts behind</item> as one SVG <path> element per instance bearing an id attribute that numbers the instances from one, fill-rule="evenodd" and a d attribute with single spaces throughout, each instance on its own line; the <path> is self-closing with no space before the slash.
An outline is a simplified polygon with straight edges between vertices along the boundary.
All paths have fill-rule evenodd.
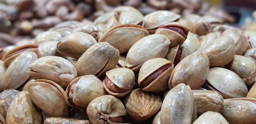
<path id="1" fill-rule="evenodd" d="M 59 23 L 0 48 L 0 124 L 255 124 L 245 32 L 128 6 Z"/>

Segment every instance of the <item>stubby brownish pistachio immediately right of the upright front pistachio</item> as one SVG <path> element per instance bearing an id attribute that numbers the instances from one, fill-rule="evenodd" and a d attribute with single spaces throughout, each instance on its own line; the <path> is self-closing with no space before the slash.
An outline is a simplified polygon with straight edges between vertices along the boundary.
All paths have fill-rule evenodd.
<path id="1" fill-rule="evenodd" d="M 223 97 L 212 90 L 192 90 L 198 115 L 207 111 L 221 113 L 224 109 Z"/>

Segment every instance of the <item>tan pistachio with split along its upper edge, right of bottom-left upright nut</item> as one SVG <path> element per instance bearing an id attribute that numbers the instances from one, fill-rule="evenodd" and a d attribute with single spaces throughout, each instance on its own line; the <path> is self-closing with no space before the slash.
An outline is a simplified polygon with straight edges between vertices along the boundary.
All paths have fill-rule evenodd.
<path id="1" fill-rule="evenodd" d="M 32 101 L 49 117 L 68 117 L 70 109 L 65 102 L 63 88 L 47 79 L 38 79 L 29 86 Z"/>

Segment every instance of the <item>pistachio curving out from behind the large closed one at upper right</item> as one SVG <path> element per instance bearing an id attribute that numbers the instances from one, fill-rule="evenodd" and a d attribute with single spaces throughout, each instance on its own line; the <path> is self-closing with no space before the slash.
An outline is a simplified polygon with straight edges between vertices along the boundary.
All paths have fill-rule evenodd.
<path id="1" fill-rule="evenodd" d="M 244 33 L 236 28 L 230 28 L 225 30 L 221 36 L 231 37 L 236 44 L 236 55 L 243 55 L 247 49 L 247 38 L 244 36 Z"/>

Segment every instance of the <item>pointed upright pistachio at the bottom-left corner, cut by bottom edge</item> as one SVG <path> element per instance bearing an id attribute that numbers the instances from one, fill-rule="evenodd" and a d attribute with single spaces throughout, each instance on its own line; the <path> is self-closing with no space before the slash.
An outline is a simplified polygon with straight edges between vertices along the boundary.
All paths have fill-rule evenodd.
<path id="1" fill-rule="evenodd" d="M 41 112 L 28 91 L 20 91 L 13 99 L 6 115 L 6 124 L 41 124 Z"/>

